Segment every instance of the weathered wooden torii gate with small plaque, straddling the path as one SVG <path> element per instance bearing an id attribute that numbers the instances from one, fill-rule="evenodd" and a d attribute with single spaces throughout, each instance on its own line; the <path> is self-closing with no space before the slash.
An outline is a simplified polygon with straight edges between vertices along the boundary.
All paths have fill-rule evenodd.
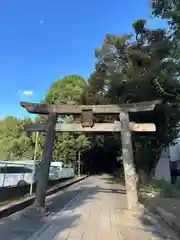
<path id="1" fill-rule="evenodd" d="M 121 132 L 122 157 L 127 192 L 127 206 L 129 210 L 138 210 L 138 194 L 136 185 L 136 172 L 133 160 L 131 131 L 152 132 L 156 131 L 153 123 L 129 122 L 129 112 L 153 111 L 156 104 L 161 101 L 149 101 L 121 105 L 49 105 L 21 102 L 29 113 L 48 115 L 45 123 L 28 124 L 26 131 L 46 132 L 44 150 L 39 171 L 36 189 L 35 205 L 45 207 L 45 196 L 52 160 L 52 151 L 55 132 Z M 119 115 L 119 121 L 114 123 L 95 123 L 94 115 Z M 80 123 L 58 123 L 58 115 L 81 115 Z"/>

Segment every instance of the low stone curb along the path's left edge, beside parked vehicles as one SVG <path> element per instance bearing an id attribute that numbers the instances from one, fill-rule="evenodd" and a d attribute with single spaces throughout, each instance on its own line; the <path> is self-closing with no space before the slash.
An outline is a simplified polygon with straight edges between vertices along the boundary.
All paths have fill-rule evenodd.
<path id="1" fill-rule="evenodd" d="M 61 183 L 58 186 L 52 187 L 47 191 L 47 196 L 50 196 L 52 194 L 57 193 L 60 190 L 68 188 L 71 185 L 86 179 L 87 177 L 88 175 L 84 175 L 82 177 L 76 178 L 75 180 L 72 180 L 63 184 Z M 3 217 L 7 217 L 13 213 L 16 213 L 20 210 L 23 210 L 24 208 L 30 206 L 34 202 L 34 200 L 35 200 L 35 194 L 33 194 L 32 196 L 26 197 L 16 203 L 5 205 L 0 209 L 0 219 Z"/>

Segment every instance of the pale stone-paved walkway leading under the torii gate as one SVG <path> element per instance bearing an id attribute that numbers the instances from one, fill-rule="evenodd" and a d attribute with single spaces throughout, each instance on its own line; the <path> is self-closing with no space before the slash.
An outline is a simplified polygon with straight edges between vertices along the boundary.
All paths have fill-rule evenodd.
<path id="1" fill-rule="evenodd" d="M 64 208 L 60 209 L 63 193 L 60 197 L 48 200 L 51 212 L 43 219 L 31 219 L 31 208 L 27 213 L 16 214 L 20 219 L 21 227 L 14 223 L 8 225 L 10 220 L 1 223 L 1 238 L 6 240 L 176 240 L 176 236 L 160 224 L 151 215 L 137 220 L 124 214 L 126 207 L 126 195 L 120 184 L 113 183 L 109 176 L 92 176 L 83 183 L 71 187 L 68 192 L 75 192 Z M 58 201 L 57 201 L 58 199 Z M 23 220 L 22 216 L 26 215 Z M 28 217 L 27 217 L 28 216 Z M 34 217 L 32 214 L 31 216 Z M 15 217 L 14 217 L 15 218 Z M 36 221 L 35 221 L 36 220 Z M 11 218 L 12 222 L 12 218 Z M 36 224 L 35 224 L 36 223 Z M 16 234 L 8 238 L 8 232 L 14 228 Z M 3 230 L 4 229 L 4 230 Z M 5 231 L 6 229 L 6 231 Z M 23 231 L 24 229 L 24 231 Z M 3 234 L 6 232 L 6 234 Z M 9 235 L 10 236 L 10 235 Z"/>

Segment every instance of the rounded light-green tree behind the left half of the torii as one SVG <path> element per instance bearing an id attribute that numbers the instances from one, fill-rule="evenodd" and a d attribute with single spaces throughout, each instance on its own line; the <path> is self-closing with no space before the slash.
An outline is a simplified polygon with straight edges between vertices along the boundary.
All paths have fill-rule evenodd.
<path id="1" fill-rule="evenodd" d="M 81 94 L 87 83 L 79 75 L 68 75 L 52 83 L 45 101 L 50 104 L 80 104 Z M 76 121 L 73 117 L 61 116 L 59 121 Z M 56 135 L 53 156 L 55 160 L 63 159 L 68 163 L 76 159 L 77 149 L 85 151 L 91 145 L 90 139 L 85 135 L 61 133 Z M 77 148 L 77 149 L 76 149 Z"/>

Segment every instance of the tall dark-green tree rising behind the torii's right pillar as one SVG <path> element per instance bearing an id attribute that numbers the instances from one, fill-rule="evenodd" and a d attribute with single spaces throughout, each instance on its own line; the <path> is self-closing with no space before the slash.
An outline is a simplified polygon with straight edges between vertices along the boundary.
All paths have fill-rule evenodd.
<path id="1" fill-rule="evenodd" d="M 97 88 L 96 81 L 89 80 L 87 88 L 96 94 L 96 98 L 102 95 L 113 104 L 156 99 L 171 102 L 180 93 L 179 66 L 172 57 L 174 45 L 171 39 L 165 30 L 150 30 L 145 24 L 144 20 L 136 21 L 134 35 L 107 34 L 102 47 L 96 50 L 96 74 L 101 75 L 102 79 L 98 79 L 101 86 Z M 86 96 L 88 99 L 87 93 Z M 162 105 L 156 108 L 154 115 L 138 113 L 131 116 L 136 121 L 154 121 L 157 125 L 156 134 L 133 134 L 137 170 L 143 169 L 149 174 L 162 148 L 176 138 L 177 113 L 177 107 Z"/>

